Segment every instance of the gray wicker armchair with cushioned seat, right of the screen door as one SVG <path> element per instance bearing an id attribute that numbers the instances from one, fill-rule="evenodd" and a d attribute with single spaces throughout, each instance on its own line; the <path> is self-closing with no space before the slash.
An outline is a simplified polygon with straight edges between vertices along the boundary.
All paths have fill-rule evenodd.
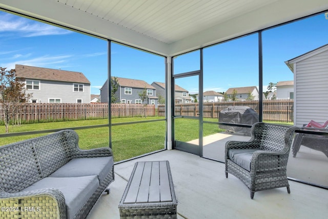
<path id="1" fill-rule="evenodd" d="M 267 123 L 252 126 L 248 142 L 226 143 L 226 177 L 228 173 L 238 177 L 251 192 L 287 187 L 286 166 L 294 131 L 299 129 Z"/>

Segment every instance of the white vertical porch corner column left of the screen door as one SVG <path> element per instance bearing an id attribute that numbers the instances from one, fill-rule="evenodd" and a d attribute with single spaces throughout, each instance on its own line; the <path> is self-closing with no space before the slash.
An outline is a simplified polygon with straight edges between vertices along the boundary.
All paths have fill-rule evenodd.
<path id="1" fill-rule="evenodd" d="M 172 57 L 166 57 L 166 115 L 167 115 L 167 139 L 166 146 L 172 150 Z"/>

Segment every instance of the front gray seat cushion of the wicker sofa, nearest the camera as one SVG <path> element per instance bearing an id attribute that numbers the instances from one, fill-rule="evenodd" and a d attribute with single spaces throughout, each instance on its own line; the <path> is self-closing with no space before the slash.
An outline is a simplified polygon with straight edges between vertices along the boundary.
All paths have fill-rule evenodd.
<path id="1" fill-rule="evenodd" d="M 67 218 L 73 218 L 99 186 L 96 175 L 81 177 L 46 177 L 23 191 L 56 188 L 63 192 Z"/>

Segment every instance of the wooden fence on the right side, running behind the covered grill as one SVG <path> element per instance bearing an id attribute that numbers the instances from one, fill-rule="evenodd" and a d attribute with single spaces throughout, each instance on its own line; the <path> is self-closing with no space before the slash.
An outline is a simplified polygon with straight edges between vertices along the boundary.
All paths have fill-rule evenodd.
<path id="1" fill-rule="evenodd" d="M 198 116 L 199 103 L 175 104 L 174 114 L 185 116 Z M 218 118 L 219 112 L 231 106 L 248 106 L 257 113 L 258 101 L 238 101 L 238 102 L 213 102 L 203 103 L 204 118 Z M 263 101 L 263 121 L 270 122 L 294 122 L 294 101 L 293 100 L 271 100 Z M 165 105 L 158 105 L 158 116 L 165 116 Z"/>

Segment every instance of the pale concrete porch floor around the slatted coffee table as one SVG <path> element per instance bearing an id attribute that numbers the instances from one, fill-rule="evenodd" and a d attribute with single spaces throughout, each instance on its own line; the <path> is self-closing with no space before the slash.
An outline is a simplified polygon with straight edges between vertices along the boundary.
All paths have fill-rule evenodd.
<path id="1" fill-rule="evenodd" d="M 178 198 L 178 218 L 327 218 L 328 190 L 290 181 L 286 188 L 255 192 L 236 177 L 224 174 L 224 164 L 178 150 L 166 150 L 117 164 L 111 193 L 100 197 L 91 219 L 119 218 L 118 204 L 137 161 L 168 160 Z"/>

